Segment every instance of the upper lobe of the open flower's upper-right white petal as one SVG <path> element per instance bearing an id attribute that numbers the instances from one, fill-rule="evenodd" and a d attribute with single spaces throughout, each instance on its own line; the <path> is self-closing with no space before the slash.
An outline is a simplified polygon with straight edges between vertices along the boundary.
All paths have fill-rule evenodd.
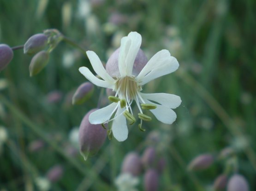
<path id="1" fill-rule="evenodd" d="M 167 62 L 167 59 L 171 56 L 170 52 L 167 50 L 161 50 L 157 52 L 149 62 L 143 67 L 139 75 L 137 76 L 138 79 L 143 78 L 147 73 L 149 73 L 155 67 L 159 67 Z"/>

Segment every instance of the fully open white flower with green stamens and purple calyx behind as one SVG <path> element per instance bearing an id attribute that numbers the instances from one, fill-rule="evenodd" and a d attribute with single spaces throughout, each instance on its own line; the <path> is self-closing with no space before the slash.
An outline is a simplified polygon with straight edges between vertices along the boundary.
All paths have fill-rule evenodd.
<path id="1" fill-rule="evenodd" d="M 142 86 L 149 81 L 178 69 L 179 63 L 167 50 L 157 52 L 148 62 L 140 49 L 142 37 L 137 32 L 131 32 L 121 39 L 120 48 L 110 56 L 106 69 L 101 60 L 93 51 L 87 51 L 91 65 L 101 77 L 97 78 L 87 67 L 80 67 L 79 71 L 93 84 L 112 89 L 115 96 L 108 99 L 113 102 L 107 107 L 92 112 L 89 115 L 91 124 L 105 124 L 113 121 L 108 135 L 113 135 L 118 141 L 124 141 L 128 136 L 126 119 L 133 124 L 136 119 L 133 115 L 131 104 L 136 102 L 140 118 L 139 129 L 142 121 L 150 121 L 151 118 L 143 113 L 149 110 L 155 117 L 165 124 L 172 124 L 176 119 L 176 113 L 172 110 L 179 107 L 179 96 L 166 93 L 142 93 Z M 153 101 L 153 102 L 152 102 Z M 104 125 L 103 125 L 104 126 Z"/>

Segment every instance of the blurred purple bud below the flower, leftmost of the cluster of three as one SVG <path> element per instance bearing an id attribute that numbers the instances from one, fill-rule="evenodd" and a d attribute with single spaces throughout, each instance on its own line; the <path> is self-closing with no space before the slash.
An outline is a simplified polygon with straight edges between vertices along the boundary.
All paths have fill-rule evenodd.
<path id="1" fill-rule="evenodd" d="M 137 152 L 129 152 L 122 163 L 122 173 L 130 173 L 137 176 L 141 173 L 142 163 Z"/>

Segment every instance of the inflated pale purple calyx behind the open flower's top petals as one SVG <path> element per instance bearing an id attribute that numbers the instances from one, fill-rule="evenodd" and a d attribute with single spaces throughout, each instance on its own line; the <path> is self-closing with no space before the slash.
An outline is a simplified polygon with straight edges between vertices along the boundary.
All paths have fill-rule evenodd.
<path id="1" fill-rule="evenodd" d="M 119 48 L 116 51 L 114 51 L 113 54 L 109 57 L 106 64 L 107 73 L 109 73 L 112 77 L 120 76 L 118 67 L 119 51 Z M 143 69 L 143 67 L 147 64 L 147 62 L 147 57 L 145 56 L 144 52 L 140 49 L 134 61 L 132 75 L 137 76 Z"/>

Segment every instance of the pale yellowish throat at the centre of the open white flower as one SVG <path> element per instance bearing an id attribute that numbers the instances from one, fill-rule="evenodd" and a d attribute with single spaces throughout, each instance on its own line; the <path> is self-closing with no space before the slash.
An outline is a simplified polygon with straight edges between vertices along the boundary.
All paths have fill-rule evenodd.
<path id="1" fill-rule="evenodd" d="M 135 99 L 137 91 L 139 91 L 141 87 L 137 85 L 135 78 L 126 76 L 116 82 L 115 89 L 118 91 L 121 99 L 131 100 Z"/>

